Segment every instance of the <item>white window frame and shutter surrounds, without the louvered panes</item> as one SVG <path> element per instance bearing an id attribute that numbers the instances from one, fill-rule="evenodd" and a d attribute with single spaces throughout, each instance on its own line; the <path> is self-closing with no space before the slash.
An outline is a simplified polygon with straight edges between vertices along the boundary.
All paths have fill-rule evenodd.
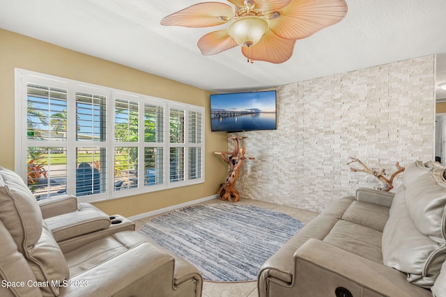
<path id="1" fill-rule="evenodd" d="M 50 86 L 54 88 L 62 88 L 67 90 L 67 141 L 30 141 L 27 137 L 27 86 L 29 83 L 38 84 L 41 86 Z M 101 95 L 106 97 L 106 141 L 77 141 L 76 139 L 76 94 L 77 93 L 89 93 L 93 95 Z M 133 102 L 138 102 L 138 141 L 132 142 L 117 142 L 115 141 L 114 126 L 115 126 L 115 102 L 116 99 L 125 99 Z M 160 106 L 163 109 L 163 125 L 164 129 L 161 142 L 145 142 L 144 139 L 144 125 L 145 125 L 145 106 L 153 105 Z M 170 143 L 170 110 L 180 109 L 184 111 L 184 129 L 183 129 L 183 143 Z M 70 112 L 74 111 L 74 112 Z M 201 136 L 201 141 L 197 143 L 190 143 L 189 141 L 189 113 L 190 111 L 201 113 L 201 127 L 197 127 Z M 67 150 L 67 177 L 66 177 L 66 193 L 75 195 L 76 187 L 76 150 L 79 148 L 88 147 L 105 147 L 107 153 L 105 154 L 106 163 L 106 184 L 105 193 L 98 193 L 92 195 L 79 196 L 80 202 L 96 202 L 101 200 L 110 200 L 115 198 L 123 198 L 131 195 L 139 195 L 143 193 L 151 193 L 153 191 L 160 191 L 169 188 L 177 188 L 180 186 L 189 186 L 191 184 L 200 184 L 205 182 L 204 168 L 205 168 L 205 140 L 204 140 L 204 127 L 203 121 L 205 117 L 205 109 L 203 106 L 195 106 L 192 104 L 185 104 L 183 102 L 175 102 L 169 99 L 162 99 L 153 97 L 150 95 L 142 95 L 137 93 L 128 92 L 125 90 L 118 90 L 115 88 L 109 88 L 105 86 L 98 86 L 91 83 L 85 83 L 82 81 L 75 81 L 72 79 L 65 79 L 61 77 L 54 77 L 49 74 L 42 74 L 38 72 L 32 72 L 29 70 L 22 70 L 15 68 L 15 172 L 17 172 L 24 181 L 27 178 L 27 152 L 28 147 L 75 147 L 73 150 Z M 138 152 L 138 164 L 144 164 L 144 152 L 146 147 L 162 147 L 163 150 L 163 183 L 153 184 L 150 186 L 144 185 L 144 166 L 138 166 L 137 168 L 137 187 L 125 188 L 123 191 L 116 191 L 114 188 L 114 152 L 116 147 L 137 147 Z M 183 159 L 183 180 L 178 182 L 171 182 L 169 178 L 169 156 L 171 147 L 184 147 L 184 159 Z M 198 170 L 201 170 L 200 178 L 189 179 L 189 147 L 200 147 L 201 159 L 194 163 L 194 166 L 199 166 Z M 72 152 L 74 151 L 74 152 Z M 58 195 L 57 197 L 61 197 Z M 55 196 L 56 197 L 56 196 Z"/>

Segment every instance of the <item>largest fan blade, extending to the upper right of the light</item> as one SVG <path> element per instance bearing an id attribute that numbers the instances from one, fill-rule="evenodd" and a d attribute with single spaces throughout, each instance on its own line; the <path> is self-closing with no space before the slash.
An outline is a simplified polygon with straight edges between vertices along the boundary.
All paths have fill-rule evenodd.
<path id="1" fill-rule="evenodd" d="M 279 17 L 268 19 L 271 31 L 282 38 L 301 39 L 344 19 L 347 3 L 344 0 L 295 0 L 279 11 Z"/>

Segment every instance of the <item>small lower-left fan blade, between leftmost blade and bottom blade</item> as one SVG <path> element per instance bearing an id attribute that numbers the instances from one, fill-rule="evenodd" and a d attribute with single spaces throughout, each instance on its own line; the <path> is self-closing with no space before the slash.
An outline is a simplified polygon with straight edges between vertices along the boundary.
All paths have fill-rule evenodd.
<path id="1" fill-rule="evenodd" d="M 226 30 L 213 31 L 204 35 L 197 45 L 204 56 L 219 54 L 238 46 L 236 40 L 233 40 Z"/>

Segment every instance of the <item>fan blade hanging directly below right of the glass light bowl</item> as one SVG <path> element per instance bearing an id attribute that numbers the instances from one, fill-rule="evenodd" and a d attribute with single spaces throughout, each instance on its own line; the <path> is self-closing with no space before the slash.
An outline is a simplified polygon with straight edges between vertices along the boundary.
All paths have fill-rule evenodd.
<path id="1" fill-rule="evenodd" d="M 253 61 L 284 63 L 293 55 L 295 40 L 284 39 L 270 30 L 252 47 L 242 47 L 243 56 Z"/>

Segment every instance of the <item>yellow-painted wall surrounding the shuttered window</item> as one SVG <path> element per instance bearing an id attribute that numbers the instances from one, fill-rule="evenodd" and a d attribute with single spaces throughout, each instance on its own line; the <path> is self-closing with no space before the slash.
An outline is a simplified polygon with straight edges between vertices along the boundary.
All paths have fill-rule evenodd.
<path id="1" fill-rule="evenodd" d="M 135 216 L 205 198 L 215 195 L 219 185 L 224 181 L 226 164 L 214 155 L 213 151 L 227 150 L 227 134 L 210 132 L 208 91 L 2 29 L 0 29 L 0 166 L 11 170 L 15 168 L 15 67 L 205 108 L 206 182 L 95 203 L 108 214 Z"/>

